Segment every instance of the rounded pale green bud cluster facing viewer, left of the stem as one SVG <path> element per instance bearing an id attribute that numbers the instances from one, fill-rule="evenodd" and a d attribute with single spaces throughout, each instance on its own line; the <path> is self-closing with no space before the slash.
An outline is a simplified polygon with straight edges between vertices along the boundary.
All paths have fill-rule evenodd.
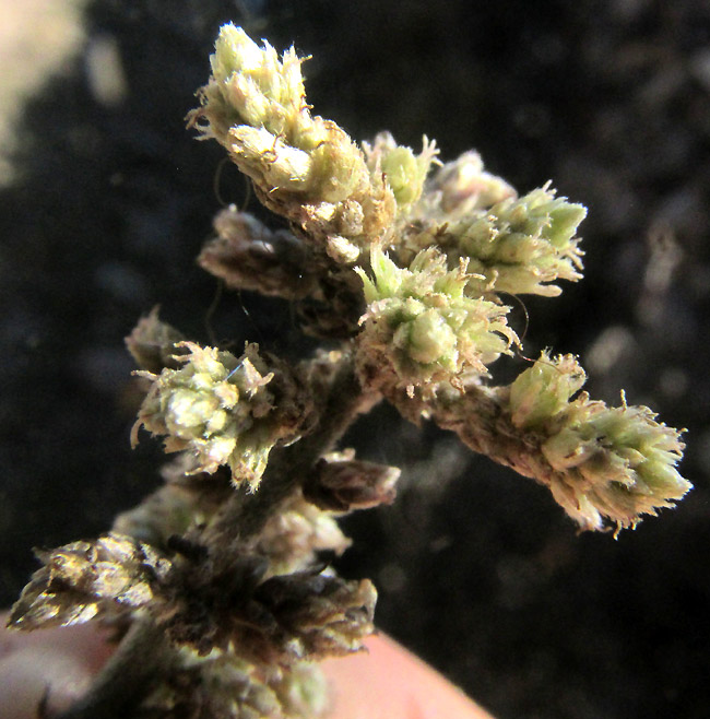
<path id="1" fill-rule="evenodd" d="M 133 444 L 144 426 L 153 435 L 165 435 L 165 451 L 193 455 L 194 472 L 212 473 L 225 464 L 235 484 L 246 481 L 256 488 L 274 445 L 297 437 L 284 414 L 288 410 L 276 408 L 268 387 L 274 373 L 256 344 L 247 345 L 238 360 L 192 342 L 177 346 L 189 350 L 177 357 L 179 369 L 135 373 L 152 387 L 133 426 Z"/>

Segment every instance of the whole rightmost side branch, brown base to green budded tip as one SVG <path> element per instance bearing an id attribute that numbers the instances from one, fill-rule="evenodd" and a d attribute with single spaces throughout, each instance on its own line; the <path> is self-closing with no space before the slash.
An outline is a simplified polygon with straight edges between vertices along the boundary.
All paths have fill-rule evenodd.
<path id="1" fill-rule="evenodd" d="M 510 387 L 445 391 L 422 411 L 474 451 L 549 487 L 582 529 L 636 527 L 690 490 L 676 469 L 681 433 L 648 406 L 577 394 L 583 382 L 571 355 L 543 354 Z"/>

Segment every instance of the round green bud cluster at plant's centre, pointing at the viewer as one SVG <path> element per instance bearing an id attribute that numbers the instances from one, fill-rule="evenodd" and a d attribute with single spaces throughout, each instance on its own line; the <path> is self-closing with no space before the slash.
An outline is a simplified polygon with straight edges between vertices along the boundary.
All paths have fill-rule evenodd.
<path id="1" fill-rule="evenodd" d="M 431 247 L 402 269 L 374 249 L 370 266 L 374 279 L 356 270 L 368 303 L 357 338 L 365 384 L 375 377 L 410 394 L 415 387 L 433 393 L 438 382 L 455 384 L 463 373 L 486 374 L 518 342 L 506 322 L 508 307 L 466 296 L 465 261 L 449 271 L 446 256 Z"/>

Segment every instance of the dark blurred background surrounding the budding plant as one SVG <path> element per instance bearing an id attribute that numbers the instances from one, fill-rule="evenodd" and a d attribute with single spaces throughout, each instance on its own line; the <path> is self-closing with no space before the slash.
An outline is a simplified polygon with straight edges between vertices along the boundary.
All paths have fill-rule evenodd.
<path id="1" fill-rule="evenodd" d="M 45 4 L 16 3 L 37 27 Z M 379 626 L 500 719 L 709 717 L 710 5 L 91 0 L 79 15 L 84 39 L 28 93 L 3 152 L 2 603 L 33 546 L 105 531 L 157 483 L 157 443 L 129 449 L 140 398 L 122 338 L 159 303 L 208 341 L 216 285 L 194 257 L 223 153 L 184 117 L 233 20 L 312 55 L 309 102 L 354 138 L 389 129 L 416 149 L 426 132 L 445 160 L 475 148 L 521 191 L 552 178 L 587 204 L 585 279 L 525 299 L 525 352 L 577 353 L 593 396 L 618 403 L 624 387 L 688 428 L 695 491 L 615 541 L 578 535 L 546 490 L 379 409 L 352 440 L 402 464 L 402 490 L 346 521 L 341 570 L 371 577 Z M 48 47 L 54 31 L 38 32 L 2 82 Z M 245 198 L 233 167 L 218 187 Z M 301 350 L 277 302 L 225 295 L 212 325 Z"/>

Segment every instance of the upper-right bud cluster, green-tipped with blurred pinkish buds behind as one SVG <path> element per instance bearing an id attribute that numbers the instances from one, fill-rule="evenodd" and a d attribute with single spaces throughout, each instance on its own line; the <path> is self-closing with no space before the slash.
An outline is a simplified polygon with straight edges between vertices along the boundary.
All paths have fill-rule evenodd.
<path id="1" fill-rule="evenodd" d="M 466 164 L 451 165 L 439 170 L 442 177 L 430 186 L 403 233 L 410 254 L 435 243 L 447 254 L 449 267 L 465 258 L 475 274 L 468 287 L 474 295 L 554 297 L 561 293 L 556 281 L 582 276 L 576 233 L 584 207 L 555 197 L 548 185 L 517 198 L 499 178 L 483 170 L 472 177 L 473 169 L 463 174 Z M 446 213 L 443 208 L 451 205 L 454 211 Z"/>

